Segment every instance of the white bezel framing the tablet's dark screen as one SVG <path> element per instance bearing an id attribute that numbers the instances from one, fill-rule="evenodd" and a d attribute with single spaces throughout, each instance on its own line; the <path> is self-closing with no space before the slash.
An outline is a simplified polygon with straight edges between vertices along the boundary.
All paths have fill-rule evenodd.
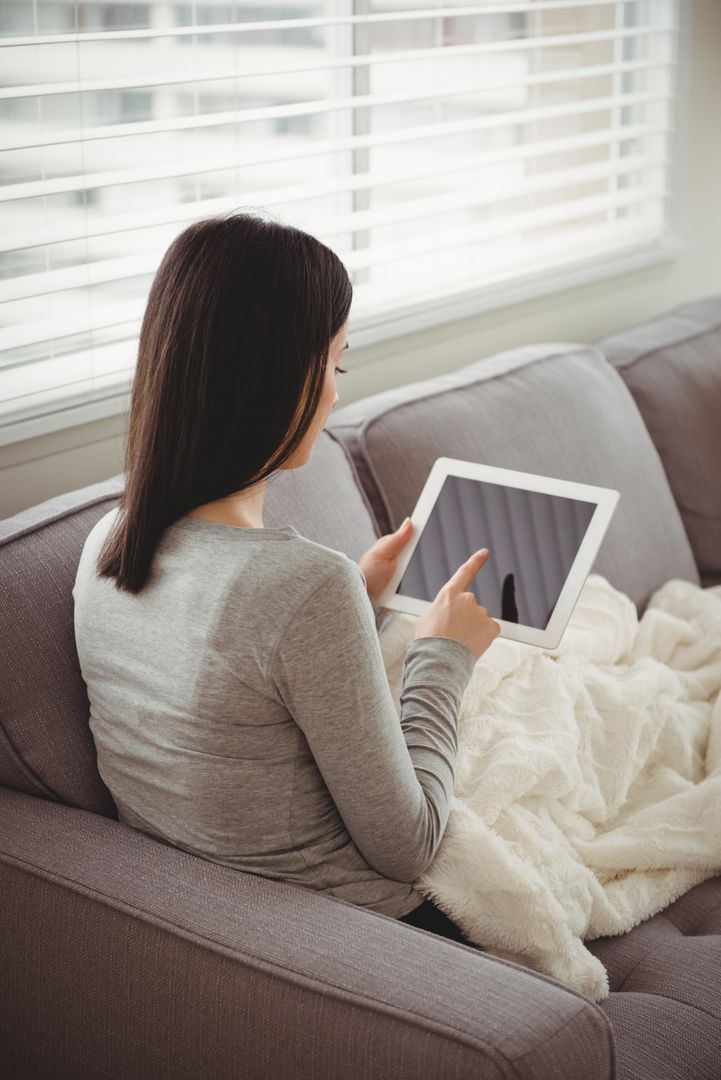
<path id="1" fill-rule="evenodd" d="M 518 472 L 515 469 L 500 469 L 496 465 L 464 461 L 462 458 L 437 458 L 418 498 L 416 509 L 410 515 L 413 526 L 411 539 L 398 555 L 396 569 L 386 588 L 380 596 L 376 597 L 376 603 L 380 607 L 385 607 L 393 611 L 404 611 L 407 615 L 422 615 L 431 607 L 431 602 L 420 600 L 414 596 L 403 596 L 396 593 L 396 589 L 423 535 L 423 529 L 431 516 L 447 476 L 462 476 L 471 480 L 488 481 L 493 484 L 502 484 L 505 487 L 522 488 L 527 491 L 542 491 L 547 495 L 560 495 L 570 499 L 583 499 L 587 502 L 596 503 L 596 510 L 581 541 L 546 629 L 539 630 L 538 626 L 526 626 L 523 623 L 507 622 L 504 619 L 498 619 L 490 612 L 491 617 L 501 627 L 502 637 L 511 638 L 514 642 L 521 642 L 525 645 L 555 649 L 563 636 L 563 631 L 584 582 L 590 573 L 598 549 L 601 545 L 606 530 L 621 498 L 621 492 L 610 487 L 597 487 L 593 484 L 581 484 L 576 481 L 558 480 L 554 476 Z M 487 544 L 486 546 L 489 545 Z M 468 557 L 472 554 L 473 552 L 468 552 Z M 493 557 L 492 551 L 490 557 Z M 478 572 L 482 575 L 482 567 Z"/>

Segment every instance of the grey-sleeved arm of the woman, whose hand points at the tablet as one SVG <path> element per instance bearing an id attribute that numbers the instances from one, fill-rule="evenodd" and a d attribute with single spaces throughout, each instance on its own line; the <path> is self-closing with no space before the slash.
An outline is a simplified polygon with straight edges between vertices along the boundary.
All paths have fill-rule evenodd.
<path id="1" fill-rule="evenodd" d="M 414 881 L 448 822 L 458 712 L 476 656 L 450 637 L 406 649 L 400 723 L 359 567 L 338 564 L 293 613 L 270 676 L 345 827 L 379 874 Z"/>

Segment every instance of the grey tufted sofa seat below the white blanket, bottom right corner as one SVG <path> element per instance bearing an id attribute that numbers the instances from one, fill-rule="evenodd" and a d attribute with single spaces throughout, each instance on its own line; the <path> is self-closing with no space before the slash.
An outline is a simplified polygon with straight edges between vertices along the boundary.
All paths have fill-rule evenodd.
<path id="1" fill-rule="evenodd" d="M 609 973 L 599 1004 L 623 1047 L 618 1080 L 721 1076 L 721 877 L 628 933 L 585 945 Z"/>

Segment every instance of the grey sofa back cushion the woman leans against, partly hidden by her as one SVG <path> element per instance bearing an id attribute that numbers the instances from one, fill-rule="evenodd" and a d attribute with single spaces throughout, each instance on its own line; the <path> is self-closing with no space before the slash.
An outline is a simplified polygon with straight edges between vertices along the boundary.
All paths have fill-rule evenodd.
<path id="1" fill-rule="evenodd" d="M 123 487 L 121 473 L 0 522 L 0 784 L 113 818 L 89 725 L 72 586 L 87 534 Z M 377 536 L 352 462 L 327 432 L 302 469 L 268 483 L 263 521 L 269 528 L 295 525 L 351 558 Z"/>

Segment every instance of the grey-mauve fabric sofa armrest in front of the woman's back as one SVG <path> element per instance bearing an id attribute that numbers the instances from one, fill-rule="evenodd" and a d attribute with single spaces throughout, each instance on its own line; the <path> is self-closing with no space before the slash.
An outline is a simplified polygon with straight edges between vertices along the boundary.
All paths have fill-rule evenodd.
<path id="1" fill-rule="evenodd" d="M 613 1078 L 554 980 L 0 787 L 0 1075 Z"/>

